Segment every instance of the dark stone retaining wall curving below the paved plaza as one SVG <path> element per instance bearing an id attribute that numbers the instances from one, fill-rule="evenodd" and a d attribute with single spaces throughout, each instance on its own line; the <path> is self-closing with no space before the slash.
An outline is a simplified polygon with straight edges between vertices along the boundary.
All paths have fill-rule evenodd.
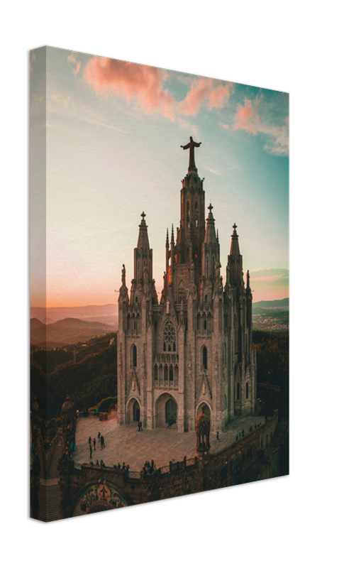
<path id="1" fill-rule="evenodd" d="M 203 459 L 177 462 L 158 469 L 155 474 L 145 475 L 123 469 L 99 466 L 74 466 L 73 461 L 60 464 L 60 518 L 73 515 L 74 506 L 84 490 L 91 486 L 105 484 L 118 493 L 127 506 L 151 503 L 179 496 L 212 491 L 245 483 L 246 474 L 260 457 L 261 440 L 265 448 L 265 437 L 277 427 L 278 414 L 262 426 L 248 432 L 221 452 L 208 454 Z M 214 447 L 212 448 L 214 452 Z M 261 479 L 269 479 L 278 471 L 278 457 L 265 466 Z"/>

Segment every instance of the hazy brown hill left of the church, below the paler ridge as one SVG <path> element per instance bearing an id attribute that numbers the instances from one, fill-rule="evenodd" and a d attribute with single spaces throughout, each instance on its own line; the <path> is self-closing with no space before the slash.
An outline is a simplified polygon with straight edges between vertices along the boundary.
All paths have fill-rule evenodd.
<path id="1" fill-rule="evenodd" d="M 30 343 L 43 349 L 54 349 L 68 344 L 85 342 L 115 330 L 114 326 L 101 322 L 84 322 L 66 317 L 53 324 L 43 324 L 37 318 L 30 320 Z"/>

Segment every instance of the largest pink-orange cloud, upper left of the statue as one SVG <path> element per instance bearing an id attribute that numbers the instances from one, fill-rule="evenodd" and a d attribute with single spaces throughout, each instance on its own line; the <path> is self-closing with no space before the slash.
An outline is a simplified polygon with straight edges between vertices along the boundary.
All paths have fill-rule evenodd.
<path id="1" fill-rule="evenodd" d="M 97 94 L 135 100 L 144 111 L 161 111 L 174 120 L 174 98 L 162 89 L 166 77 L 157 67 L 109 58 L 93 58 L 84 69 L 84 79 Z"/>

